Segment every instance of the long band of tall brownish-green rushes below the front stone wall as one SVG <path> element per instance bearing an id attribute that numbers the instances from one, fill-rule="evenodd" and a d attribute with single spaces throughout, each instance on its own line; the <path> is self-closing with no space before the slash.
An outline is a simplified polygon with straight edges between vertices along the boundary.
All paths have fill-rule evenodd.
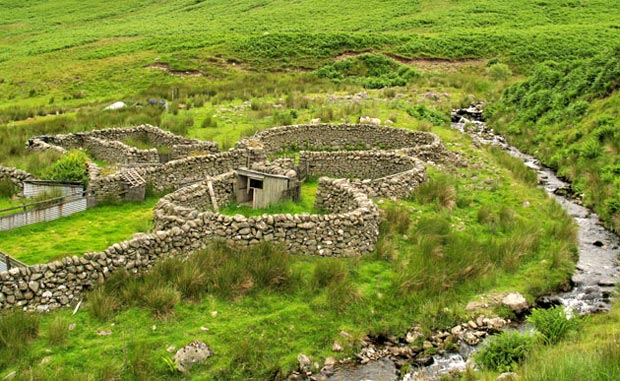
<path id="1" fill-rule="evenodd" d="M 286 292 L 295 286 L 294 280 L 291 260 L 280 246 L 263 242 L 242 249 L 214 242 L 186 259 L 163 259 L 140 277 L 115 272 L 89 294 L 87 308 L 99 320 L 130 306 L 166 317 L 182 298 L 198 301 L 212 294 L 238 299 L 259 291 Z"/>

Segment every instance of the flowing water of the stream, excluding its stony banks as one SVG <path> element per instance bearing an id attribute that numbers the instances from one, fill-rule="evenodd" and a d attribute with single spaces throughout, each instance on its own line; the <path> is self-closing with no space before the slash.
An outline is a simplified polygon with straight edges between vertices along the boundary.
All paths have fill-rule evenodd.
<path id="1" fill-rule="evenodd" d="M 569 314 L 605 312 L 611 308 L 611 296 L 620 279 L 620 238 L 605 229 L 598 216 L 583 207 L 578 198 L 572 197 L 570 184 L 534 158 L 510 146 L 494 133 L 482 120 L 481 107 L 472 106 L 452 113 L 452 128 L 469 134 L 481 144 L 501 147 L 517 157 L 538 174 L 539 185 L 575 219 L 579 227 L 579 260 L 572 276 L 573 288 L 565 293 L 542 298 L 541 306 L 563 305 Z M 433 356 L 433 363 L 414 368 L 405 374 L 403 381 L 433 380 L 449 372 L 462 370 L 475 348 L 461 344 L 458 353 Z M 379 363 L 380 361 L 380 363 Z M 365 365 L 337 370 L 329 380 L 393 381 L 397 380 L 396 366 L 382 359 Z"/>

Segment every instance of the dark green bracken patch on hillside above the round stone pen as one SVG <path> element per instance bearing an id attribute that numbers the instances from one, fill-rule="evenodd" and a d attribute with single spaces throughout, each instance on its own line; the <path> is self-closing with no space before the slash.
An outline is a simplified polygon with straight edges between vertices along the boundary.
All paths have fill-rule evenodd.
<path id="1" fill-rule="evenodd" d="M 345 58 L 323 66 L 316 74 L 334 82 L 350 80 L 369 89 L 405 86 L 411 79 L 419 76 L 413 69 L 382 54 L 361 54 Z"/>

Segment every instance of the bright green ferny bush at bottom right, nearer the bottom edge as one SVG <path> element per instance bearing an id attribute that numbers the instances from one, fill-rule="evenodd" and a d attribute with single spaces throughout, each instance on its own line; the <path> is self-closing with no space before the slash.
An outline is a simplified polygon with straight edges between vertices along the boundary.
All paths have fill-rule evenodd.
<path id="1" fill-rule="evenodd" d="M 476 363 L 484 369 L 495 372 L 510 372 L 530 351 L 536 337 L 517 331 L 505 331 L 488 339 L 480 352 L 474 354 Z"/>

